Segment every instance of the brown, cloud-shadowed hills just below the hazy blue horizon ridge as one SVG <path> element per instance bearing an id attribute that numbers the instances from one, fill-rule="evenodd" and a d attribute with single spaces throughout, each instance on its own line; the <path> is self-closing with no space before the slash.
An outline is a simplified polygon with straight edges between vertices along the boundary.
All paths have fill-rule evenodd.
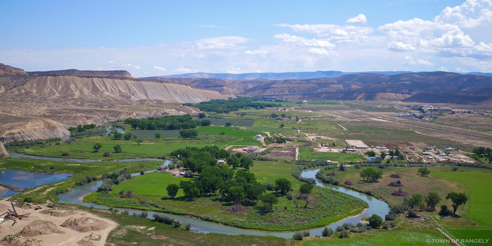
<path id="1" fill-rule="evenodd" d="M 193 87 L 216 90 L 224 94 L 266 96 L 306 100 L 375 100 L 426 103 L 482 103 L 492 100 L 492 73 L 460 74 L 452 72 L 367 72 L 343 73 L 318 71 L 304 73 L 205 74 L 223 78 L 169 78 L 146 79 L 175 81 Z M 383 73 L 383 74 L 381 74 Z M 386 73 L 386 74 L 384 74 Z M 203 73 L 200 73 L 202 76 Z M 297 77 L 323 75 L 322 78 Z M 476 75 L 478 74 L 478 75 Z M 254 76 L 253 76 L 254 75 Z M 488 76 L 485 76 L 488 75 Z M 199 73 L 189 74 L 199 76 Z M 261 79 L 239 79 L 248 76 Z M 265 79 L 272 77 L 295 79 Z"/>

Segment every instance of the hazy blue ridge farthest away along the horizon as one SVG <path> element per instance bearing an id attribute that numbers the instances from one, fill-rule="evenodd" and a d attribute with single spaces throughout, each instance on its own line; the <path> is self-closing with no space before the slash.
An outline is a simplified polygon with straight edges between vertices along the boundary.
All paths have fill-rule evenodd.
<path id="1" fill-rule="evenodd" d="M 414 73 L 411 71 L 369 71 L 369 72 L 342 72 L 342 71 L 315 71 L 315 72 L 284 72 L 284 73 L 185 73 L 172 74 L 164 76 L 146 77 L 146 79 L 162 80 L 172 78 L 193 78 L 193 79 L 227 79 L 227 80 L 286 80 L 286 79 L 318 79 L 318 78 L 335 78 L 347 74 L 359 73 L 377 73 L 382 75 L 395 75 L 401 73 Z M 492 77 L 492 73 L 469 72 L 460 73 L 463 75 L 481 75 Z"/>

